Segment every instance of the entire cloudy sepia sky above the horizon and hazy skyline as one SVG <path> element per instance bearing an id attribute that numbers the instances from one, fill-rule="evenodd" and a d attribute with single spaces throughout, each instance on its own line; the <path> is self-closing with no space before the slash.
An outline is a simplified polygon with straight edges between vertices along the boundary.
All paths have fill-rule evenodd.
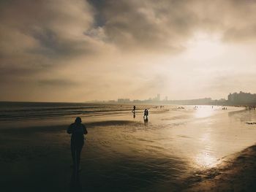
<path id="1" fill-rule="evenodd" d="M 256 93 L 254 0 L 1 0 L 0 101 Z"/>

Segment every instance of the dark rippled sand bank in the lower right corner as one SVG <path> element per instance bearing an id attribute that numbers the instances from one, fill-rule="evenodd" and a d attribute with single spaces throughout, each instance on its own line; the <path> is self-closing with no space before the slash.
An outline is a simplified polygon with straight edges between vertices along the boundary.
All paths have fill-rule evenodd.
<path id="1" fill-rule="evenodd" d="M 188 178 L 184 191 L 256 191 L 256 145 L 222 158 L 211 169 Z"/>

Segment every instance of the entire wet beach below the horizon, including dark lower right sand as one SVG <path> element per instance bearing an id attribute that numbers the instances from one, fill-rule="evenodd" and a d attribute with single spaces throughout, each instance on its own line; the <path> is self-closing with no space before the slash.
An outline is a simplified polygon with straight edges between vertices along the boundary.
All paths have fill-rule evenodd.
<path id="1" fill-rule="evenodd" d="M 129 105 L 86 107 L 1 118 L 1 191 L 255 189 L 255 111 L 141 105 L 134 117 Z M 74 182 L 66 130 L 78 115 L 89 134 Z"/>

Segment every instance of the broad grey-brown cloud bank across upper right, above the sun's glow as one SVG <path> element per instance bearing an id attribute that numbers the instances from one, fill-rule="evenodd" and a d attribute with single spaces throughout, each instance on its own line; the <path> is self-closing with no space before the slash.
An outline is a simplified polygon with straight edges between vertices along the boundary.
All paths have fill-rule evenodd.
<path id="1" fill-rule="evenodd" d="M 200 30 L 219 32 L 231 41 L 256 37 L 256 1 L 90 2 L 97 12 L 95 23 L 119 47 L 182 50 L 184 42 Z"/>

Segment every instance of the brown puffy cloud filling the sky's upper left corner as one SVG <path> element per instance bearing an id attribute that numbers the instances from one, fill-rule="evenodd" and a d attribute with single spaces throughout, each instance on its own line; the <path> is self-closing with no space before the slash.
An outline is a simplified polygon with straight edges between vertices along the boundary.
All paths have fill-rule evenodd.
<path id="1" fill-rule="evenodd" d="M 35 77 L 97 51 L 86 37 L 93 21 L 86 1 L 1 1 L 0 80 Z"/>

